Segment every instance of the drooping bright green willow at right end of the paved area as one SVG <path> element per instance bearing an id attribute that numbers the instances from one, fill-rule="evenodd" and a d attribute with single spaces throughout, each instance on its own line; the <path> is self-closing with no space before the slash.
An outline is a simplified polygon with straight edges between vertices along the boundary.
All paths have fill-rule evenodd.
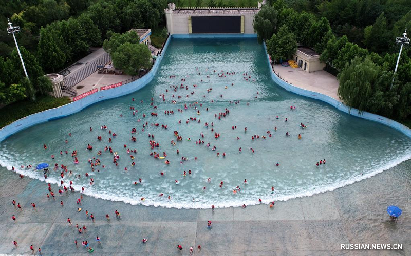
<path id="1" fill-rule="evenodd" d="M 338 96 L 351 108 L 357 108 L 360 113 L 366 111 L 368 101 L 374 93 L 373 84 L 376 83 L 379 74 L 379 66 L 371 60 L 355 57 L 351 63 L 345 64 L 337 76 L 340 81 Z"/>

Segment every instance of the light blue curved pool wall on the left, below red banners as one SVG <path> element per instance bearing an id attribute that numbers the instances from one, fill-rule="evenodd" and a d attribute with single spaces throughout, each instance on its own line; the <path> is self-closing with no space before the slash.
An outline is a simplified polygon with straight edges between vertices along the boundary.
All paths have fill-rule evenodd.
<path id="1" fill-rule="evenodd" d="M 18 119 L 17 121 L 14 121 L 11 124 L 0 129 L 0 141 L 3 141 L 10 135 L 13 135 L 24 129 L 27 129 L 28 127 L 31 127 L 33 125 L 44 123 L 44 122 L 51 121 L 54 119 L 63 118 L 65 116 L 69 116 L 74 113 L 80 112 L 87 106 L 92 105 L 94 103 L 107 100 L 107 99 L 117 98 L 117 97 L 124 96 L 126 94 L 130 94 L 132 92 L 140 90 L 141 88 L 146 86 L 147 83 L 149 83 L 155 76 L 158 70 L 158 67 L 160 66 L 160 62 L 167 50 L 167 47 L 169 46 L 170 40 L 171 38 L 169 38 L 165 42 L 161 56 L 158 56 L 152 69 L 148 71 L 148 73 L 142 76 L 141 78 L 133 82 L 124 84 L 123 86 L 120 86 L 120 87 L 116 87 L 110 90 L 98 91 L 85 98 L 82 98 L 81 100 L 74 101 L 74 102 L 71 102 L 63 106 L 59 106 L 58 108 L 45 110 L 39 113 L 32 114 L 30 116 L 26 116 L 22 119 Z"/>

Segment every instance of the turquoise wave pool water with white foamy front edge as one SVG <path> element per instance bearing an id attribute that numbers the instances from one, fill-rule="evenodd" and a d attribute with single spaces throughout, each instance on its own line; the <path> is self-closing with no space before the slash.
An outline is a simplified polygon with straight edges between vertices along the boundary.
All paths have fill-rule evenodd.
<path id="1" fill-rule="evenodd" d="M 225 76 L 219 77 L 221 71 Z M 84 187 L 88 195 L 131 204 L 208 208 L 212 204 L 229 207 L 257 204 L 258 199 L 268 203 L 310 196 L 370 177 L 411 158 L 411 140 L 401 133 L 341 113 L 325 103 L 288 93 L 271 80 L 269 72 L 264 48 L 255 39 L 173 39 L 156 77 L 145 88 L 9 137 L 1 142 L 0 164 L 9 169 L 15 166 L 16 172 L 40 180 L 45 180 L 42 172 L 17 166 L 35 166 L 41 162 L 63 164 L 73 175 L 64 173 L 61 179 L 62 169 L 50 167 L 47 182 L 63 180 L 68 186 L 72 180 L 75 189 Z M 180 88 L 181 83 L 184 88 Z M 178 89 L 174 91 L 173 86 Z M 208 93 L 210 88 L 212 91 Z M 194 102 L 198 102 L 195 106 L 199 115 Z M 186 110 L 184 104 L 188 106 Z M 290 110 L 291 105 L 296 109 Z M 138 110 L 135 116 L 130 107 Z M 226 108 L 230 111 L 226 117 L 221 120 L 215 117 Z M 165 115 L 164 111 L 174 114 Z M 152 112 L 157 116 L 152 116 Z M 186 123 L 190 117 L 196 121 Z M 209 127 L 204 126 L 206 122 Z M 158 127 L 152 125 L 156 123 Z M 302 129 L 300 123 L 307 128 Z M 167 125 L 166 130 L 162 124 Z M 108 129 L 101 130 L 102 125 Z M 136 134 L 131 133 L 133 127 Z M 109 130 L 117 136 L 110 136 Z M 176 141 L 173 131 L 178 131 L 182 141 Z M 218 139 L 214 138 L 215 132 L 220 134 Z M 148 134 L 154 135 L 158 148 L 152 150 Z M 253 135 L 260 138 L 251 140 Z M 102 140 L 97 140 L 97 136 Z M 137 138 L 136 142 L 130 140 L 132 136 Z M 198 139 L 204 144 L 196 144 Z M 172 140 L 176 145 L 171 144 Z M 87 144 L 93 146 L 92 151 L 86 149 Z M 212 151 L 214 145 L 216 150 Z M 105 146 L 118 152 L 118 167 L 113 163 L 113 154 L 104 151 Z M 127 148 L 136 148 L 133 160 Z M 71 157 L 74 150 L 78 151 L 78 164 Z M 97 155 L 99 150 L 101 155 Z M 153 151 L 161 156 L 166 152 L 167 157 L 154 159 L 150 156 Z M 51 154 L 55 156 L 53 160 Z M 94 172 L 88 163 L 93 157 L 101 160 Z M 181 161 L 181 157 L 188 160 Z M 316 167 L 321 159 L 326 159 L 326 165 Z M 164 164 L 164 160 L 170 164 Z M 135 166 L 130 165 L 133 161 Z M 275 165 L 277 162 L 279 166 Z M 86 172 L 89 177 L 85 177 Z M 94 179 L 94 185 L 89 184 L 90 178 Z M 139 178 L 141 184 L 134 185 Z M 271 186 L 275 187 L 274 193 Z M 163 196 L 159 196 L 161 193 Z M 171 199 L 167 198 L 169 195 Z"/>

